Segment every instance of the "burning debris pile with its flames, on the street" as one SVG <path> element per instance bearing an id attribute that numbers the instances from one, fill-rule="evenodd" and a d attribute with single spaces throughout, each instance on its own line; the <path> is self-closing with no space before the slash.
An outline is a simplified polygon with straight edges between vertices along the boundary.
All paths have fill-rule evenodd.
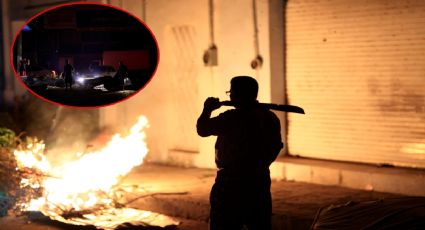
<path id="1" fill-rule="evenodd" d="M 15 211 L 39 211 L 53 220 L 73 225 L 93 225 L 114 229 L 124 223 L 140 226 L 169 226 L 178 222 L 149 211 L 126 208 L 120 180 L 148 153 L 144 128 L 146 117 L 126 136 L 116 134 L 100 150 L 77 153 L 77 159 L 51 165 L 44 154 L 45 145 L 35 138 L 18 142 L 13 151 L 16 174 Z M 13 138 L 9 136 L 9 139 Z M 10 141 L 10 140 L 9 140 Z M 15 178 L 16 181 L 16 178 Z M 12 191 L 13 189 L 9 189 Z"/>

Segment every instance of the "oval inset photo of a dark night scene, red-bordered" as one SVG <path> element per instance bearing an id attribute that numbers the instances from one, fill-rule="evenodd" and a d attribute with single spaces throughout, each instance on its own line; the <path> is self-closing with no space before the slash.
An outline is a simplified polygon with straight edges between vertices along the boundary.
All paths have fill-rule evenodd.
<path id="1" fill-rule="evenodd" d="M 140 92 L 159 48 L 137 17 L 97 3 L 63 4 L 31 18 L 16 34 L 11 62 L 36 96 L 71 107 L 99 107 Z"/>

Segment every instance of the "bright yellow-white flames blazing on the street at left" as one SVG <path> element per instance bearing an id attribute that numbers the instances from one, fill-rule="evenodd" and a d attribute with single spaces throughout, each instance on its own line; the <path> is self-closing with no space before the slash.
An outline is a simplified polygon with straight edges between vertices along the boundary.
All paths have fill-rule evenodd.
<path id="1" fill-rule="evenodd" d="M 14 154 L 18 168 L 37 170 L 43 175 L 41 179 L 40 176 L 31 175 L 21 180 L 22 187 L 41 188 L 42 193 L 40 197 L 19 204 L 21 210 L 41 211 L 62 222 L 71 221 L 72 218 L 66 216 L 83 214 L 83 220 L 77 222 L 83 224 L 92 221 L 95 226 L 102 220 L 99 215 L 116 216 L 117 213 L 122 213 L 127 214 L 127 217 L 120 218 L 126 219 L 128 213 L 132 216 L 139 215 L 138 218 L 140 215 L 150 214 L 143 211 L 137 215 L 135 212 L 140 210 L 134 209 L 119 210 L 114 203 L 114 186 L 133 167 L 141 165 L 148 153 L 144 133 L 147 126 L 147 118 L 141 116 L 127 136 L 116 134 L 101 150 L 77 153 L 77 160 L 59 166 L 51 165 L 46 159 L 42 142 L 31 143 L 25 150 L 16 150 Z M 76 224 L 74 222 L 70 223 Z"/>

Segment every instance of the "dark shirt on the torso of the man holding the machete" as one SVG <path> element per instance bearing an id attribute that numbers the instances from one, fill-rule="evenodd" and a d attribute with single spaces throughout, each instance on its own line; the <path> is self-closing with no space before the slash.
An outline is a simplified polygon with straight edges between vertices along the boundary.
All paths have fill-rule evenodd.
<path id="1" fill-rule="evenodd" d="M 215 162 L 238 174 L 263 173 L 282 148 L 276 115 L 256 106 L 232 109 L 214 118 L 198 119 L 200 136 L 217 136 Z"/>

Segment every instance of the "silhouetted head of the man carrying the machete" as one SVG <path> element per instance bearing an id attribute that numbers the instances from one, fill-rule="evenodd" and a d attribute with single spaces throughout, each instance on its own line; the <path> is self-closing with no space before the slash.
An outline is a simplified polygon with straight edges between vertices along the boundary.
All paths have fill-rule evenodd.
<path id="1" fill-rule="evenodd" d="M 255 102 L 258 94 L 257 81 L 249 76 L 236 76 L 230 81 L 230 99 L 239 105 Z"/>

